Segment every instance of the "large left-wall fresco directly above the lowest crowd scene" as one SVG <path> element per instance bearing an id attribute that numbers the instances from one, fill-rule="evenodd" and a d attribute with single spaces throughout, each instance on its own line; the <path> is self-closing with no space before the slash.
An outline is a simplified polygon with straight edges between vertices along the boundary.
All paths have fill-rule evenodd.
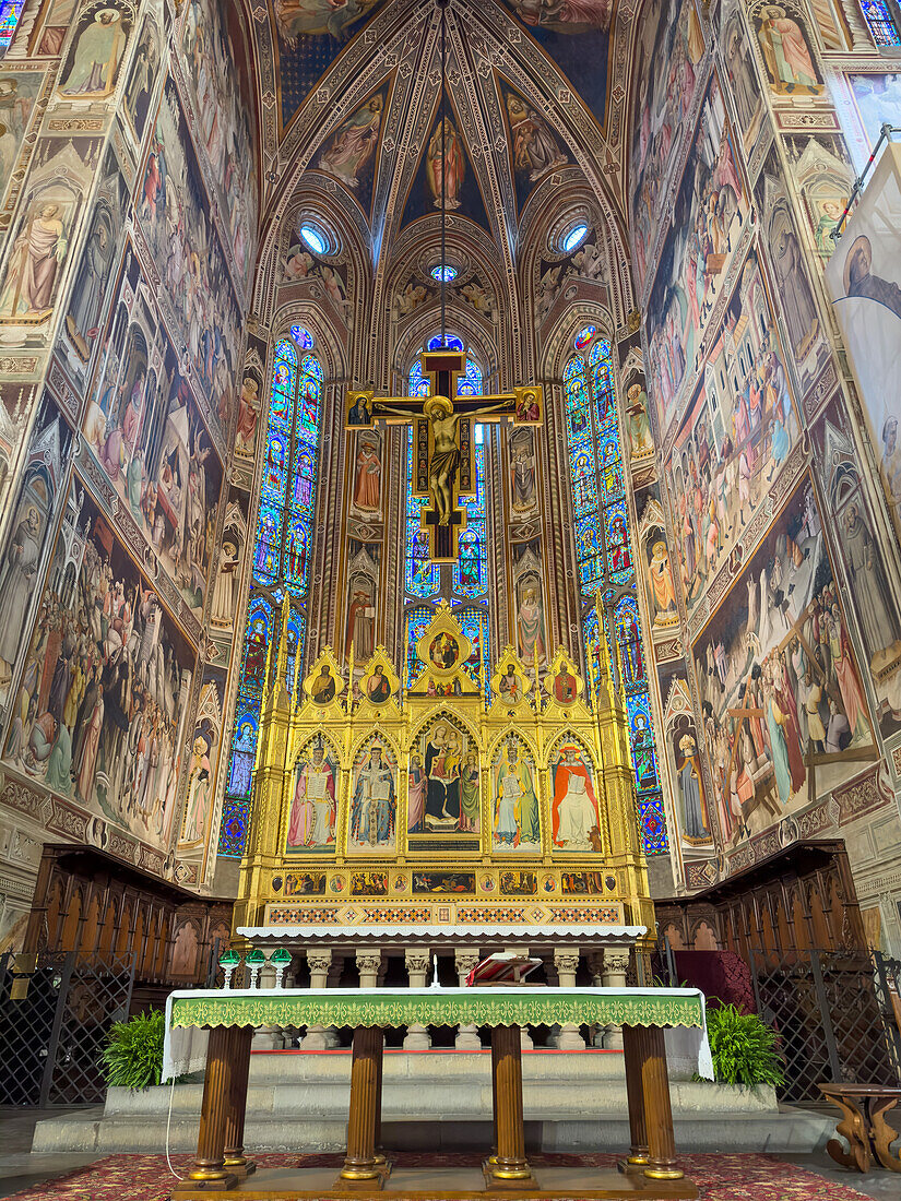
<path id="1" fill-rule="evenodd" d="M 222 466 L 175 348 L 155 324 L 153 298 L 130 251 L 83 435 L 162 568 L 199 616 Z"/>

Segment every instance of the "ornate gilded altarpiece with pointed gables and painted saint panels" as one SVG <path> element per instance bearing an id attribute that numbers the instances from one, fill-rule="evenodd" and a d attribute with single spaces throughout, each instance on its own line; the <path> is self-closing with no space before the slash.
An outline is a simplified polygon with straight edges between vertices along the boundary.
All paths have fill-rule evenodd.
<path id="1" fill-rule="evenodd" d="M 235 930 L 652 932 L 625 703 L 609 675 L 586 686 L 557 650 L 538 680 L 507 647 L 488 689 L 467 670 L 472 647 L 442 603 L 417 644 L 422 670 L 410 688 L 382 647 L 362 677 L 360 664 L 345 668 L 327 647 L 300 679 L 287 619 L 286 605 Z"/>

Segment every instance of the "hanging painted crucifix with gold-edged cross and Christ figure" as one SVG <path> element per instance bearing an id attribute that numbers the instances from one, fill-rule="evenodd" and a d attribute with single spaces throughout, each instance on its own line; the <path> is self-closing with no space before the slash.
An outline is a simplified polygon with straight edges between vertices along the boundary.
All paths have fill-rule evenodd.
<path id="1" fill-rule="evenodd" d="M 455 563 L 459 537 L 466 528 L 460 495 L 476 491 L 472 426 L 475 423 L 512 420 L 513 425 L 541 425 L 541 386 L 514 388 L 496 396 L 458 396 L 458 380 L 466 375 L 461 351 L 425 351 L 420 357 L 426 396 L 376 396 L 347 393 L 347 429 L 413 423 L 414 496 L 428 496 L 422 530 L 429 538 L 434 563 Z"/>

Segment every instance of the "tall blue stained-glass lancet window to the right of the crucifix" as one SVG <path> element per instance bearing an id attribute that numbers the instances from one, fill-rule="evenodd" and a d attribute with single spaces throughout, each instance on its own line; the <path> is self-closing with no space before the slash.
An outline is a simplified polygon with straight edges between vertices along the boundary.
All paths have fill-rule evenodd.
<path id="1" fill-rule="evenodd" d="M 593 325 L 575 339 L 563 370 L 569 476 L 575 518 L 575 562 L 586 605 L 602 598 L 611 655 L 622 664 L 636 789 L 648 854 L 669 849 L 657 753 L 651 727 L 648 668 L 636 599 L 636 570 L 628 528 L 622 452 L 616 419 L 610 343 Z M 583 637 L 586 659 L 599 679 L 597 613 L 587 609 Z M 615 663 L 611 670 L 619 671 Z"/>

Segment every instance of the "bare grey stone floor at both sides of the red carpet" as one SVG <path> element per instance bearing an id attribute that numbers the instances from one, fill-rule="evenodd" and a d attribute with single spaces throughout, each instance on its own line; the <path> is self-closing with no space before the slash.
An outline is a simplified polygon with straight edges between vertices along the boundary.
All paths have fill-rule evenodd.
<path id="1" fill-rule="evenodd" d="M 0 1197 L 10 1197 L 102 1158 L 77 1154 L 31 1154 L 35 1123 L 48 1116 L 58 1117 L 61 1112 L 64 1111 L 0 1110 Z M 895 1124 L 899 1122 L 901 1122 L 901 1116 Z M 888 1199 L 901 1201 L 901 1175 L 899 1173 L 878 1171 L 860 1176 L 839 1167 L 825 1153 L 819 1155 L 778 1155 L 777 1158 L 816 1172 L 835 1184 L 845 1184 L 857 1189 L 864 1196 L 875 1197 L 877 1201 L 888 1201 Z"/>

